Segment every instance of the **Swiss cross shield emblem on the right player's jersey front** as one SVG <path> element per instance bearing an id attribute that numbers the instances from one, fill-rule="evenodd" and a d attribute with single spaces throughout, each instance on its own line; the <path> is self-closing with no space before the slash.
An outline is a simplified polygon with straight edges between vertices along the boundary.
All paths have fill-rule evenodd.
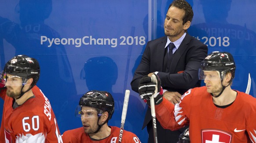
<path id="1" fill-rule="evenodd" d="M 202 143 L 231 143 L 232 135 L 230 133 L 216 130 L 202 130 Z"/>

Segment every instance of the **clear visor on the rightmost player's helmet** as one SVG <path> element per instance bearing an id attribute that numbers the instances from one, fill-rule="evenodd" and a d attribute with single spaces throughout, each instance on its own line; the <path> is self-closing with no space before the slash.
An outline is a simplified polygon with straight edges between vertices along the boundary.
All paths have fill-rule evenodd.
<path id="1" fill-rule="evenodd" d="M 219 71 L 217 70 L 198 70 L 199 80 L 221 80 Z"/>

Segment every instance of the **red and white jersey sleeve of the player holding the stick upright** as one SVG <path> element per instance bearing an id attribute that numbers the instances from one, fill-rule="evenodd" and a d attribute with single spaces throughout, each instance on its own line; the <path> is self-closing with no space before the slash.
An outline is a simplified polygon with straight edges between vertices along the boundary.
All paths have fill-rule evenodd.
<path id="1" fill-rule="evenodd" d="M 160 122 L 161 126 L 165 129 L 177 130 L 189 124 L 189 119 L 187 118 L 188 107 L 187 102 L 190 101 L 190 97 L 186 97 L 191 93 L 191 90 L 188 90 L 183 94 L 180 102 L 176 105 L 173 105 L 167 99 L 163 98 L 161 104 L 156 105 L 156 118 Z"/>

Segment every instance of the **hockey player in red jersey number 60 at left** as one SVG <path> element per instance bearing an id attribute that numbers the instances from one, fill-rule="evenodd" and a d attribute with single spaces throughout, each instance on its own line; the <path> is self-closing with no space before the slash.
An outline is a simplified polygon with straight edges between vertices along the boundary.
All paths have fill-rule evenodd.
<path id="1" fill-rule="evenodd" d="M 5 64 L 0 143 L 62 143 L 51 104 L 36 86 L 39 77 L 39 63 L 31 57 L 18 55 Z"/>

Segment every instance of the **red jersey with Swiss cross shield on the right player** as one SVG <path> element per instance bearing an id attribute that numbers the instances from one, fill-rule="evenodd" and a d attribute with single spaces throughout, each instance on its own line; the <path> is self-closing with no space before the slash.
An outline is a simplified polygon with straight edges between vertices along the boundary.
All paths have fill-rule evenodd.
<path id="1" fill-rule="evenodd" d="M 165 129 L 187 124 L 191 143 L 256 143 L 256 98 L 237 91 L 227 108 L 217 108 L 206 87 L 183 94 L 179 104 L 164 99 L 156 105 L 156 116 Z"/>

